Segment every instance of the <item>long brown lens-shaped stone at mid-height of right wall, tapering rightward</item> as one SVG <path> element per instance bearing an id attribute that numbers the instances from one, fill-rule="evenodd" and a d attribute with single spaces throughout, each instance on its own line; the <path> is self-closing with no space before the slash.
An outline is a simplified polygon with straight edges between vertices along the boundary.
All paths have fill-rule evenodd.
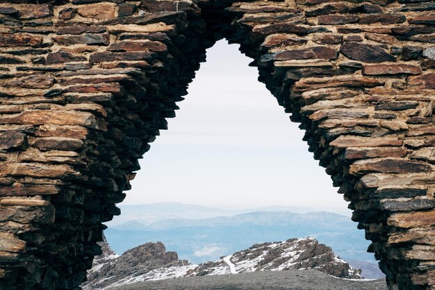
<path id="1" fill-rule="evenodd" d="M 369 172 L 381 173 L 418 173 L 429 172 L 432 166 L 419 161 L 407 159 L 370 159 L 356 161 L 350 166 L 349 172 L 354 175 L 361 175 Z"/>

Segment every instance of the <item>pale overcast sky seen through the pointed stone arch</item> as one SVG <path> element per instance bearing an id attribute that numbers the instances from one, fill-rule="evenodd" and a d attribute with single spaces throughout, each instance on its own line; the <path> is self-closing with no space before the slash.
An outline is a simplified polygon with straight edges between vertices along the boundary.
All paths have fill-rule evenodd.
<path id="1" fill-rule="evenodd" d="M 226 41 L 208 49 L 177 117 L 140 161 L 123 204 L 284 205 L 350 215 L 308 152 L 303 131 L 257 81 L 250 62 Z"/>

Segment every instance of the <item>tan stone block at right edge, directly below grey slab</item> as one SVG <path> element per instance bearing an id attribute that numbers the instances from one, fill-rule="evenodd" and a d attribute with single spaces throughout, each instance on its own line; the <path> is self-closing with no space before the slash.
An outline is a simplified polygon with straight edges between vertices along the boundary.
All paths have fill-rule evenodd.
<path id="1" fill-rule="evenodd" d="M 392 214 L 387 221 L 392 227 L 405 229 L 415 227 L 432 227 L 435 224 L 435 209 L 429 211 L 414 211 L 407 214 Z"/>

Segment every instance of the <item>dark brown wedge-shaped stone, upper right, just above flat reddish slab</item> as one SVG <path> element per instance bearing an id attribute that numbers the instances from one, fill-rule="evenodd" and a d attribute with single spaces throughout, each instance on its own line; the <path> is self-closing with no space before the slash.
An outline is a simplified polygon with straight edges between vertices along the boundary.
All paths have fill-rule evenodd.
<path id="1" fill-rule="evenodd" d="M 366 45 L 359 42 L 345 42 L 340 48 L 342 54 L 356 61 L 365 63 L 381 63 L 395 61 L 395 57 L 384 49 L 375 45 Z"/>

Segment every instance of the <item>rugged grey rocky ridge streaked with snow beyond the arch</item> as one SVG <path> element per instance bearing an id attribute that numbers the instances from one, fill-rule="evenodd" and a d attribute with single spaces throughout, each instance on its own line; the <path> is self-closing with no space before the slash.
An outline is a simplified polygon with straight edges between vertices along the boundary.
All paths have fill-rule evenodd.
<path id="1" fill-rule="evenodd" d="M 327 245 L 313 238 L 261 243 L 217 261 L 190 264 L 166 252 L 163 243 L 146 243 L 114 255 L 108 243 L 99 243 L 103 254 L 95 258 L 84 290 L 104 290 L 150 280 L 174 277 L 227 275 L 258 271 L 317 270 L 347 279 L 361 279 L 361 270 L 352 268 Z"/>

